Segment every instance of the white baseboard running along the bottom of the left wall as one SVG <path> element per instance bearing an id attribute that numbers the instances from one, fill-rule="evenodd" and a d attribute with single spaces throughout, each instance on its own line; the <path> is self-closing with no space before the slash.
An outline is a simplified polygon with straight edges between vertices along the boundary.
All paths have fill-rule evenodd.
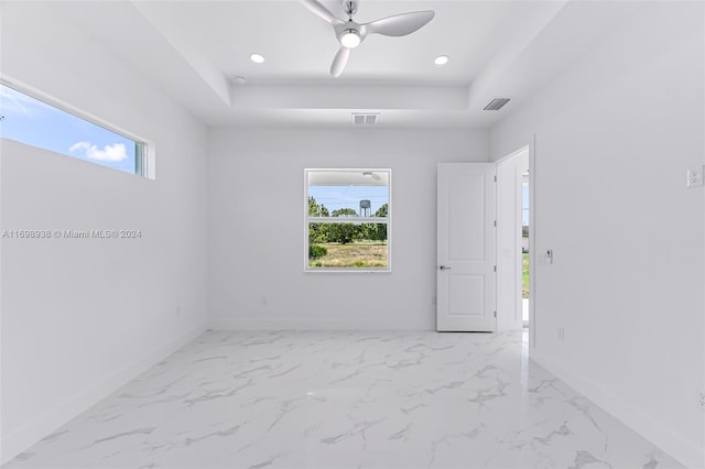
<path id="1" fill-rule="evenodd" d="M 51 435 L 56 428 L 80 415 L 83 412 L 100 402 L 115 390 L 149 370 L 171 353 L 200 336 L 206 330 L 205 325 L 196 327 L 177 338 L 154 348 L 140 360 L 117 371 L 107 379 L 96 383 L 88 390 L 64 401 L 55 408 L 23 425 L 9 435 L 0 438 L 0 466 L 11 460 L 42 438 Z"/>

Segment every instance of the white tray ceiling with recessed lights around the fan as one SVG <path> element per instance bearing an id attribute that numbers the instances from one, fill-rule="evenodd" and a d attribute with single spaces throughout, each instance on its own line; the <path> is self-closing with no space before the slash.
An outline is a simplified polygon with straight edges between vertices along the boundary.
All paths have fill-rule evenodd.
<path id="1" fill-rule="evenodd" d="M 344 17 L 339 1 L 324 1 Z M 340 78 L 333 28 L 296 0 L 57 1 L 65 15 L 210 126 L 487 128 L 626 21 L 640 2 L 361 0 L 358 22 L 434 10 L 403 37 L 370 35 Z M 263 64 L 250 61 L 264 55 Z M 445 66 L 434 65 L 448 55 Z M 238 85 L 234 77 L 246 77 Z M 495 97 L 500 111 L 482 111 Z"/>

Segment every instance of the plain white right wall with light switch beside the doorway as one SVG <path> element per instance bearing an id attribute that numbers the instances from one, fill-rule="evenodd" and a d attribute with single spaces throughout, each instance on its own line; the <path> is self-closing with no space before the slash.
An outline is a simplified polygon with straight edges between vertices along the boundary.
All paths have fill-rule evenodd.
<path id="1" fill-rule="evenodd" d="M 532 357 L 691 467 L 705 467 L 702 2 L 644 3 L 491 132 L 535 133 Z M 533 280 L 532 280 L 533 281 Z M 556 328 L 565 328 L 565 341 Z"/>

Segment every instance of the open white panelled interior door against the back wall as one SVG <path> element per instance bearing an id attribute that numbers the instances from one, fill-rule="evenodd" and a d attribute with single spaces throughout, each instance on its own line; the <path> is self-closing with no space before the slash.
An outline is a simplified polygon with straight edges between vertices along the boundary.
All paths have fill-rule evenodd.
<path id="1" fill-rule="evenodd" d="M 436 329 L 496 330 L 496 165 L 438 164 Z"/>

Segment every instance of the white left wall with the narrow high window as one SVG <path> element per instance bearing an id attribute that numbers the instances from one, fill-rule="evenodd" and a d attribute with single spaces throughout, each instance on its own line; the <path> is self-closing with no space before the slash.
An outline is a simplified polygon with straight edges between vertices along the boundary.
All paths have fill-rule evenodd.
<path id="1" fill-rule="evenodd" d="M 205 329 L 205 127 L 46 4 L 3 2 L 1 73 L 155 144 L 150 181 L 2 140 L 1 461 Z M 176 308 L 181 307 L 181 315 Z"/>

